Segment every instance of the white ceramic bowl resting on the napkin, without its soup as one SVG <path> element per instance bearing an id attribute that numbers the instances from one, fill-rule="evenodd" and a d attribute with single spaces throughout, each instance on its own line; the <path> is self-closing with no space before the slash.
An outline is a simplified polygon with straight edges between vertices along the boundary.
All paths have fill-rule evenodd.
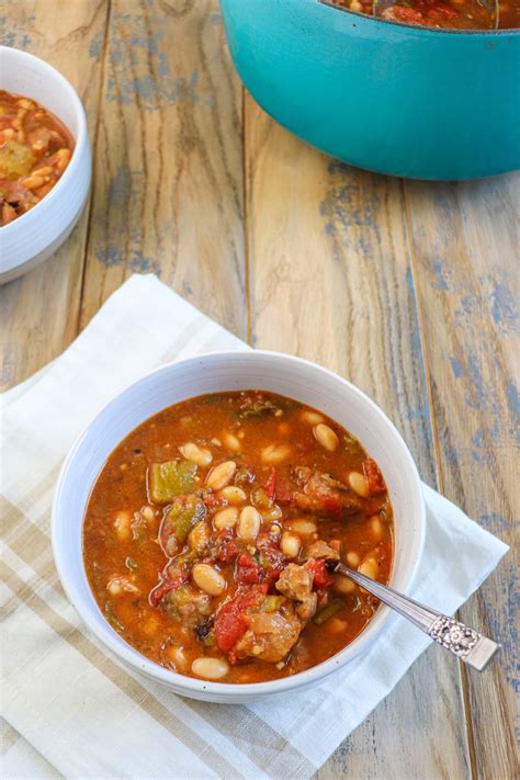
<path id="1" fill-rule="evenodd" d="M 142 656 L 113 631 L 90 590 L 81 532 L 92 485 L 106 457 L 136 426 L 171 404 L 218 391 L 267 389 L 309 404 L 360 439 L 386 479 L 395 512 L 392 585 L 406 592 L 422 553 L 425 506 L 417 468 L 397 430 L 361 391 L 314 363 L 278 352 L 222 352 L 170 363 L 144 376 L 111 400 L 68 455 L 53 507 L 53 547 L 61 584 L 84 623 L 121 660 L 177 693 L 237 703 L 302 690 L 344 666 L 374 642 L 389 618 L 377 610 L 343 651 L 306 671 L 270 682 L 230 685 L 174 674 Z"/>

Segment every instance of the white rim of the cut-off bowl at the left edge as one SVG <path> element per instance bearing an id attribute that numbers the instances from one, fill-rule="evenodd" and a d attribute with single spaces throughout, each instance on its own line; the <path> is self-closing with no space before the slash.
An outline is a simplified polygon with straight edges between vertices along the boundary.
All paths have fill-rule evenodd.
<path id="1" fill-rule="evenodd" d="M 16 217 L 16 219 L 13 219 L 13 222 L 10 222 L 8 225 L 3 225 L 0 227 L 1 230 L 1 236 L 3 239 L 8 238 L 10 233 L 14 233 L 15 230 L 20 230 L 20 225 L 23 227 L 27 226 L 29 228 L 29 222 L 30 219 L 36 219 L 38 218 L 38 215 L 42 214 L 43 208 L 41 206 L 45 206 L 45 208 L 53 208 L 54 201 L 56 197 L 59 196 L 61 191 L 68 185 L 69 181 L 74 176 L 76 176 L 77 168 L 81 165 L 81 155 L 84 151 L 84 147 L 88 142 L 88 128 L 87 128 L 87 116 L 84 113 L 84 108 L 83 104 L 70 83 L 68 79 L 65 78 L 65 76 L 54 67 L 54 65 L 50 65 L 47 63 L 45 59 L 42 59 L 41 57 L 37 57 L 35 54 L 30 54 L 29 52 L 24 52 L 21 48 L 15 48 L 14 46 L 3 46 L 0 45 L 0 61 L 1 59 L 7 56 L 7 57 L 12 57 L 14 59 L 19 58 L 20 60 L 26 60 L 29 63 L 32 63 L 35 65 L 37 68 L 43 70 L 45 75 L 50 74 L 54 79 L 59 83 L 60 88 L 63 88 L 63 91 L 67 93 L 67 99 L 70 101 L 71 105 L 74 106 L 75 114 L 78 121 L 78 134 L 75 137 L 75 147 L 72 149 L 72 156 L 70 158 L 70 162 L 67 166 L 64 174 L 58 179 L 56 184 L 53 186 L 53 189 L 47 192 L 47 194 L 39 201 L 39 203 L 36 203 L 36 205 L 31 208 L 29 212 L 25 212 L 25 214 L 22 214 L 21 216 Z M 1 82 L 1 79 L 0 79 Z M 24 95 L 21 95 L 22 98 Z M 49 111 L 43 103 L 41 103 L 43 108 L 46 111 Z M 50 112 L 53 113 L 53 112 Z M 59 118 L 59 117 L 58 117 Z M 61 122 L 61 120 L 60 120 Z M 65 123 L 64 123 L 65 124 Z M 67 126 L 67 125 L 66 125 Z M 70 135 L 72 135 L 72 131 L 70 127 L 67 127 L 68 132 Z M 74 136 L 72 136 L 74 137 Z M 36 215 L 36 216 L 34 216 Z M 5 269 L 5 271 L 9 271 L 10 267 Z M 2 271 L 3 272 L 3 271 Z"/>

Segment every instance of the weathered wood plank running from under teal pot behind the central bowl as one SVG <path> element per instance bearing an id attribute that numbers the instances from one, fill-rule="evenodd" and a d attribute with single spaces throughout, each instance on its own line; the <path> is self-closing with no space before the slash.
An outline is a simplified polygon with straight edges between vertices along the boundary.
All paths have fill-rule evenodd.
<path id="1" fill-rule="evenodd" d="M 249 98 L 246 182 L 253 343 L 368 392 L 434 484 L 402 183 L 304 146 Z M 468 765 L 460 671 L 429 652 L 318 776 L 466 778 Z"/>

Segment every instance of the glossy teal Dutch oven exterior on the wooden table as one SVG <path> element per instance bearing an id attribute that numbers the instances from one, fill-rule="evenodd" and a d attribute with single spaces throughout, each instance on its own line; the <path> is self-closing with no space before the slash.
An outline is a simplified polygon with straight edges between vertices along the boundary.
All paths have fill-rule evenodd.
<path id="1" fill-rule="evenodd" d="M 415 27 L 318 0 L 221 7 L 247 89 L 318 149 L 417 179 L 520 167 L 520 31 Z"/>

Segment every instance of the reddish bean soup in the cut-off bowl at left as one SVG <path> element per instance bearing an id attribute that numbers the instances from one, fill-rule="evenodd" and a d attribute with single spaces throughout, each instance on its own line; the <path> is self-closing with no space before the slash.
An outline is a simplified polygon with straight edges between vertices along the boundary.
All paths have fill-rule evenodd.
<path id="1" fill-rule="evenodd" d="M 0 90 L 0 226 L 33 208 L 61 178 L 75 142 L 36 101 Z"/>

